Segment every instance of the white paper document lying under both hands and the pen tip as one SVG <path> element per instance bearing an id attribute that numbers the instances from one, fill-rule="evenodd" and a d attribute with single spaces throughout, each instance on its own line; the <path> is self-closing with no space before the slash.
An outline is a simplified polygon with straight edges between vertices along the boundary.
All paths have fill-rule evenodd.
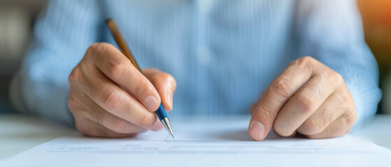
<path id="1" fill-rule="evenodd" d="M 172 121 L 134 138 L 64 136 L 0 162 L 0 166 L 391 166 L 391 151 L 361 138 L 252 141 L 245 118 Z"/>

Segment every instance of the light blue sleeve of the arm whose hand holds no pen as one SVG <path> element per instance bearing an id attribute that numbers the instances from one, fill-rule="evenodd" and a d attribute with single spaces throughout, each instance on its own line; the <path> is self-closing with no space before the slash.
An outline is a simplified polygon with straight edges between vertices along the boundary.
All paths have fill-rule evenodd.
<path id="1" fill-rule="evenodd" d="M 357 110 L 356 127 L 376 113 L 381 100 L 378 66 L 364 41 L 355 0 L 299 0 L 297 38 L 301 56 L 313 56 L 342 75 Z"/>

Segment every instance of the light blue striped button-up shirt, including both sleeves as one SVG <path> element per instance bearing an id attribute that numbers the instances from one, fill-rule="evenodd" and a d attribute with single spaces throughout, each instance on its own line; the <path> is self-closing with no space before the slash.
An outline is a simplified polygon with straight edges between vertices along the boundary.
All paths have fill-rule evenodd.
<path id="1" fill-rule="evenodd" d="M 247 114 L 288 63 L 313 56 L 346 81 L 358 122 L 381 99 L 378 67 L 353 0 L 50 1 L 13 81 L 22 111 L 72 123 L 68 77 L 117 24 L 141 67 L 176 78 L 169 116 Z M 131 81 L 129 81 L 131 82 Z"/>

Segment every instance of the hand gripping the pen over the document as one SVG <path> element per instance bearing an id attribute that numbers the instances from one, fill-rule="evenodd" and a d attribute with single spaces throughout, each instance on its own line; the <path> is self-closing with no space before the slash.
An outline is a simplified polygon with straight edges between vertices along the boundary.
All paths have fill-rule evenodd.
<path id="1" fill-rule="evenodd" d="M 167 111 L 172 109 L 176 81 L 156 69 L 143 74 L 113 45 L 91 45 L 69 76 L 68 106 L 76 128 L 104 137 L 162 129 L 154 111 L 160 102 Z"/>

